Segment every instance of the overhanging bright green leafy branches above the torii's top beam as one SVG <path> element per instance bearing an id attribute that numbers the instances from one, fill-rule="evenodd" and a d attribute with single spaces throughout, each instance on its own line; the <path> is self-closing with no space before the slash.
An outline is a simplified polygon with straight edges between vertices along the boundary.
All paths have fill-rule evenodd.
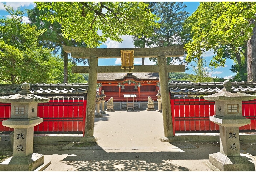
<path id="1" fill-rule="evenodd" d="M 36 6 L 49 10 L 41 18 L 61 24 L 64 38 L 88 47 L 107 38 L 120 42 L 122 35 L 152 34 L 153 27 L 159 27 L 144 2 L 36 2 Z"/>

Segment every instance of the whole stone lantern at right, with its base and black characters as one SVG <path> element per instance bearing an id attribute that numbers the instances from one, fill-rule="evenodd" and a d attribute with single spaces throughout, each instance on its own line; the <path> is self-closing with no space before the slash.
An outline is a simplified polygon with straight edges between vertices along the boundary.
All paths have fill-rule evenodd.
<path id="1" fill-rule="evenodd" d="M 250 124 L 242 116 L 242 101 L 256 99 L 256 95 L 234 92 L 226 80 L 221 92 L 204 96 L 215 101 L 215 113 L 210 121 L 220 126 L 220 152 L 209 155 L 211 166 L 220 171 L 255 171 L 254 164 L 240 156 L 239 127 Z"/>

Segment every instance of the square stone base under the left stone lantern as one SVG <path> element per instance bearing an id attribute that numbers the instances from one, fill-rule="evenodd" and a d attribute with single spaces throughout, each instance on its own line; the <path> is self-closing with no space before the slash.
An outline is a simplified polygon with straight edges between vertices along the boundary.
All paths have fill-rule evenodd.
<path id="1" fill-rule="evenodd" d="M 44 164 L 44 155 L 33 153 L 27 157 L 10 157 L 0 164 L 0 171 L 33 171 Z"/>

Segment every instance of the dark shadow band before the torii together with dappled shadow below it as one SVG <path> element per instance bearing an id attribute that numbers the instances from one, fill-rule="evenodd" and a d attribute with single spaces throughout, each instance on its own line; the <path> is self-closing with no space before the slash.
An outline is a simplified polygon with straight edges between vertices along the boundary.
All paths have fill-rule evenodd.
<path id="1" fill-rule="evenodd" d="M 206 151 L 199 149 L 182 149 L 183 152 L 170 149 L 167 152 L 118 152 L 118 150 L 103 150 L 96 145 L 94 148 L 81 147 L 76 150 L 51 151 L 52 154 L 66 154 L 60 162 L 73 167 L 75 171 L 191 171 L 174 160 L 202 160 L 209 159 L 209 154 L 218 152 L 219 146 L 203 144 Z M 75 148 L 74 148 L 75 149 Z M 41 150 L 39 154 L 49 154 Z M 189 162 L 187 162 L 189 164 Z M 73 170 L 74 170 L 73 169 Z"/>

